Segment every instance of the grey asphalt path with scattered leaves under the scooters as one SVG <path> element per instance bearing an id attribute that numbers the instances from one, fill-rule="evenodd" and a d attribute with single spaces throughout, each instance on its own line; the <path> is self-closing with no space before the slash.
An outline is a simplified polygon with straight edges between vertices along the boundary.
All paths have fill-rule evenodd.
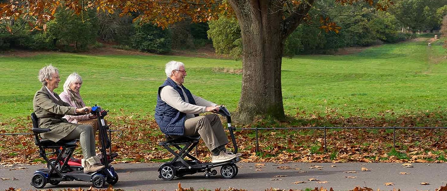
<path id="1" fill-rule="evenodd" d="M 261 164 L 261 165 L 259 165 Z M 237 163 L 239 172 L 232 179 L 217 175 L 205 178 L 203 173 L 186 175 L 171 181 L 158 178 L 157 163 L 114 164 L 119 181 L 114 188 L 123 190 L 165 190 L 174 191 L 181 187 L 215 190 L 229 187 L 253 191 L 265 191 L 273 187 L 278 189 L 301 189 L 330 187 L 335 191 L 352 190 L 356 186 L 369 187 L 373 190 L 390 191 L 435 191 L 447 183 L 447 164 L 413 163 L 413 168 L 404 168 L 403 163 Z M 9 187 L 20 188 L 22 191 L 36 190 L 30 185 L 31 177 L 38 166 L 0 166 L 0 190 Z M 362 167 L 371 171 L 362 171 Z M 216 168 L 219 172 L 220 168 Z M 348 173 L 351 171 L 350 173 Z M 353 173 L 352 171 L 355 171 Z M 404 172 L 406 174 L 404 174 Z M 402 173 L 402 174 L 400 174 Z M 356 177 L 356 178 L 354 178 Z M 316 178 L 318 181 L 309 181 Z M 326 183 L 327 181 L 327 183 Z M 304 182 L 304 183 L 297 183 Z M 392 183 L 385 186 L 385 183 Z M 421 185 L 429 183 L 429 185 Z M 62 182 L 58 186 L 46 184 L 44 189 L 59 190 L 63 188 L 89 188 L 91 183 Z"/>

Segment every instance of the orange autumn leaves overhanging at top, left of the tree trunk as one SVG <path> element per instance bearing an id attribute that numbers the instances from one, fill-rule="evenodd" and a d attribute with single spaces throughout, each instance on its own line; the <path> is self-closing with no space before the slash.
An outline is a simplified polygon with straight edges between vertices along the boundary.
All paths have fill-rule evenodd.
<path id="1" fill-rule="evenodd" d="M 121 16 L 139 12 L 141 14 L 137 19 L 164 28 L 186 17 L 190 17 L 194 22 L 205 22 L 215 20 L 221 14 L 234 14 L 231 5 L 222 0 L 7 0 L 6 2 L 8 3 L 0 3 L 0 20 L 23 16 L 24 19 L 34 22 L 31 27 L 33 29 L 41 29 L 45 22 L 53 19 L 59 7 L 70 9 L 77 15 L 84 10 L 108 13 L 122 10 Z M 35 25 L 39 28 L 34 28 Z"/>

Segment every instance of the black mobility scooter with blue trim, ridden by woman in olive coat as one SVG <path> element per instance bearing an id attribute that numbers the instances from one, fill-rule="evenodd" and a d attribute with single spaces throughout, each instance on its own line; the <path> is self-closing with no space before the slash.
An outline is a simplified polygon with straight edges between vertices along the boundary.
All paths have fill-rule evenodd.
<path id="1" fill-rule="evenodd" d="M 101 136 L 101 146 L 102 148 L 110 148 L 110 134 L 107 134 L 107 129 L 109 128 L 105 122 L 104 117 L 107 115 L 106 110 L 102 110 L 99 106 L 92 107 L 92 114 L 97 116 L 99 136 Z M 34 176 L 31 179 L 31 185 L 36 188 L 45 187 L 46 183 L 51 185 L 58 185 L 62 181 L 84 181 L 92 182 L 94 187 L 101 188 L 105 186 L 105 183 L 114 185 L 118 183 L 118 174 L 115 172 L 114 167 L 109 165 L 107 160 L 106 149 L 102 149 L 102 164 L 105 165 L 105 169 L 98 170 L 93 173 L 84 174 L 84 171 L 73 170 L 71 166 L 68 165 L 68 161 L 72 157 L 72 154 L 76 148 L 76 140 L 60 140 L 58 142 L 53 142 L 47 139 L 41 139 L 40 133 L 50 132 L 51 129 L 39 128 L 38 119 L 36 114 L 31 113 L 31 119 L 33 121 L 33 133 L 35 138 L 35 144 L 39 147 L 39 154 L 47 162 L 48 169 L 40 169 L 34 172 Z M 63 161 L 61 166 L 57 166 L 55 162 L 51 162 L 48 157 L 46 157 L 45 149 L 60 149 L 56 161 Z M 63 156 L 66 155 L 66 156 Z"/>

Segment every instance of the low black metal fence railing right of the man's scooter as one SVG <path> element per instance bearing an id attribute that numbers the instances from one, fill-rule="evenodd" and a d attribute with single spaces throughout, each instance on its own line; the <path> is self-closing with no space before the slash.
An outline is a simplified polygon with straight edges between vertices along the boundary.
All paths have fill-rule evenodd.
<path id="1" fill-rule="evenodd" d="M 283 130 L 283 129 L 318 129 L 324 131 L 324 151 L 326 153 L 327 141 L 326 133 L 328 129 L 392 129 L 393 130 L 393 148 L 396 149 L 396 129 L 447 129 L 447 127 L 255 127 L 255 128 L 235 128 L 235 130 L 254 130 L 256 131 L 256 153 L 259 147 L 259 136 L 258 132 L 260 130 Z"/>

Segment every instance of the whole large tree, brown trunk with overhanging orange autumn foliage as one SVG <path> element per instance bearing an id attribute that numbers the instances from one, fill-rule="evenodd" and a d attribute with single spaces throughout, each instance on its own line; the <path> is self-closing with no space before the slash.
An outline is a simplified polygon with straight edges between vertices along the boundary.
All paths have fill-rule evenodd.
<path id="1" fill-rule="evenodd" d="M 366 2 L 377 9 L 388 8 L 391 0 L 335 0 L 338 4 Z M 229 3 L 229 4 L 228 4 Z M 80 14 L 83 10 L 122 10 L 122 15 L 139 13 L 142 22 L 166 27 L 190 17 L 192 21 L 215 20 L 222 13 L 234 11 L 241 29 L 243 44 L 243 77 L 236 116 L 240 122 L 251 122 L 257 115 L 283 119 L 281 60 L 284 43 L 297 26 L 308 19 L 315 0 L 3 0 L 0 21 L 11 32 L 11 21 L 23 17 L 44 30 L 46 21 L 54 18 L 63 6 Z M 229 6 L 231 5 L 231 7 Z M 340 28 L 322 17 L 326 31 Z"/>

